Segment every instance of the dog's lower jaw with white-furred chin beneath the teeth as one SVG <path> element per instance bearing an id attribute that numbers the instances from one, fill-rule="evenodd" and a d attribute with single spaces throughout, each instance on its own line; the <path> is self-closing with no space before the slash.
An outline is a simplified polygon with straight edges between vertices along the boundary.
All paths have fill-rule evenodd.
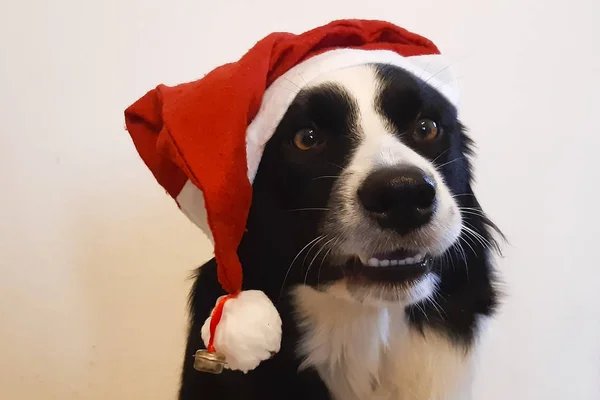
<path id="1" fill-rule="evenodd" d="M 346 264 L 344 277 L 327 291 L 362 304 L 408 306 L 425 300 L 435 291 L 439 278 L 432 265 L 433 260 L 428 256 L 402 265 L 377 266 L 356 257 Z"/>

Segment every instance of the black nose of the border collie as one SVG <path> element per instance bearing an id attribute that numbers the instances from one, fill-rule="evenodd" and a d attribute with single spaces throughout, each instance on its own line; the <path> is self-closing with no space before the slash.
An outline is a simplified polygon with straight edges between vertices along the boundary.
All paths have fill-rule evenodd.
<path id="1" fill-rule="evenodd" d="M 416 167 L 379 169 L 362 183 L 358 198 L 382 228 L 404 235 L 431 219 L 435 184 Z"/>

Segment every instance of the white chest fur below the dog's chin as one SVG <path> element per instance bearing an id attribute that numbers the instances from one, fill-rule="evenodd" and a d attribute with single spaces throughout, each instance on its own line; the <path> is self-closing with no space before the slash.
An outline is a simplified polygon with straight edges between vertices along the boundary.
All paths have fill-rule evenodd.
<path id="1" fill-rule="evenodd" d="M 303 366 L 335 400 L 465 400 L 472 355 L 431 330 L 411 328 L 403 307 L 362 306 L 309 287 L 295 291 Z"/>

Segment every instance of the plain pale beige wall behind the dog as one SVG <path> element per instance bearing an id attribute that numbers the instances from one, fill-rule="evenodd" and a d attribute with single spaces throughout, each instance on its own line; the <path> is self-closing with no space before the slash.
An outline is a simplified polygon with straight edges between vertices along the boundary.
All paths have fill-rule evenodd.
<path id="1" fill-rule="evenodd" d="M 173 399 L 205 238 L 123 110 L 268 32 L 389 19 L 456 61 L 511 245 L 475 399 L 600 398 L 600 3 L 0 0 L 0 399 Z"/>

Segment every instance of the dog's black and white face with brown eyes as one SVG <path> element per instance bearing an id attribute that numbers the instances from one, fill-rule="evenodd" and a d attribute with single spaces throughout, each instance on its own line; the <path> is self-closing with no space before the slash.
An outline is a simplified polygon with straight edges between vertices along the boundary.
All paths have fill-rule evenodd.
<path id="1" fill-rule="evenodd" d="M 269 251 L 285 263 L 270 272 L 283 271 L 286 286 L 420 301 L 465 229 L 468 147 L 456 109 L 418 77 L 386 65 L 325 74 L 298 93 L 265 148 L 250 242 L 275 241 Z"/>

